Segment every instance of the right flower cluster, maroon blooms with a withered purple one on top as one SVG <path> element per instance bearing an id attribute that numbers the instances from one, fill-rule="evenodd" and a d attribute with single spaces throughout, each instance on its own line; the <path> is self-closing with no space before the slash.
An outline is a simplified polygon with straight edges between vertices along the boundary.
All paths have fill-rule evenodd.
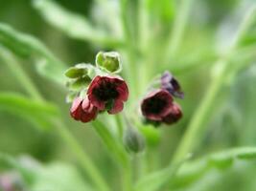
<path id="1" fill-rule="evenodd" d="M 182 117 L 182 111 L 174 97 L 183 98 L 184 94 L 175 77 L 165 72 L 160 78 L 160 87 L 151 90 L 142 100 L 141 112 L 146 121 L 155 125 L 177 122 Z"/>

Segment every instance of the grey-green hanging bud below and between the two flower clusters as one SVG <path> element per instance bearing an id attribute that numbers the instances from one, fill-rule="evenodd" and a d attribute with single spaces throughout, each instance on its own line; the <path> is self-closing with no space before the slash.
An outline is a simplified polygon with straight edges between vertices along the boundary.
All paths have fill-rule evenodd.
<path id="1" fill-rule="evenodd" d="M 131 126 L 126 129 L 123 139 L 128 152 L 139 153 L 145 149 L 145 138 Z"/>

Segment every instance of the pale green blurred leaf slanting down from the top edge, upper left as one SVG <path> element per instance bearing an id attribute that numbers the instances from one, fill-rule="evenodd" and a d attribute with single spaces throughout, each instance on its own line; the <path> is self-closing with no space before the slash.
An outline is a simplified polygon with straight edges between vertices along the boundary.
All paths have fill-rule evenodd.
<path id="1" fill-rule="evenodd" d="M 72 38 L 100 43 L 108 47 L 122 44 L 116 38 L 109 37 L 108 33 L 93 27 L 85 17 L 65 10 L 55 1 L 34 0 L 33 5 L 49 24 Z"/>

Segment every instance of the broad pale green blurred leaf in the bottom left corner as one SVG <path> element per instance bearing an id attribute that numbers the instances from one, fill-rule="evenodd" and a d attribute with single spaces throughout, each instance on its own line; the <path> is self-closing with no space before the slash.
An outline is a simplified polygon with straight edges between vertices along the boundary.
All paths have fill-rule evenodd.
<path id="1" fill-rule="evenodd" d="M 30 191 L 93 190 L 81 179 L 80 173 L 74 166 L 64 162 L 43 165 L 29 157 L 14 159 L 5 154 L 0 154 L 0 161 L 15 169 Z"/>

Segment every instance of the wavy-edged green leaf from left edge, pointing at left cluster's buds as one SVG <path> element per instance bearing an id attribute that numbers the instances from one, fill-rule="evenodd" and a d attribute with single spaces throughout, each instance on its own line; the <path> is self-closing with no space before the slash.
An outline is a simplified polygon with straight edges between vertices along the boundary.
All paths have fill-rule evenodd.
<path id="1" fill-rule="evenodd" d="M 17 32 L 12 27 L 0 23 L 0 44 L 21 57 L 34 56 L 39 74 L 63 84 L 64 64 L 35 37 Z"/>

